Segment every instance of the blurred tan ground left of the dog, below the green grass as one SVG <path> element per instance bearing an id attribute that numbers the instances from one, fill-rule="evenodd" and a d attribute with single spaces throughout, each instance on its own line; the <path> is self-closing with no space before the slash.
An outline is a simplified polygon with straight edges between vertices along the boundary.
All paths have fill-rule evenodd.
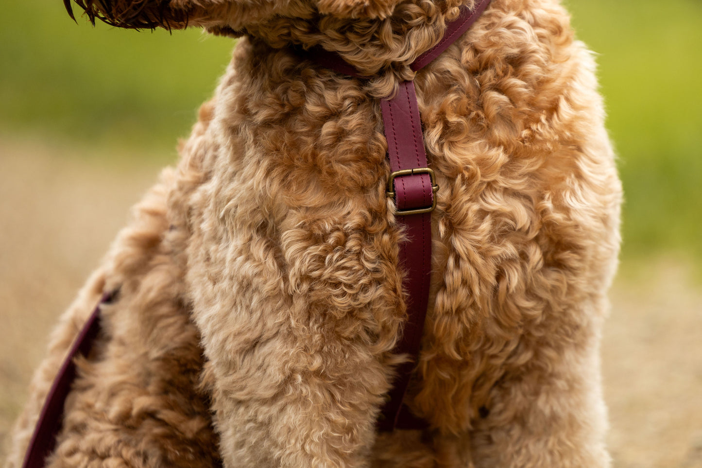
<path id="1" fill-rule="evenodd" d="M 0 460 L 48 332 L 158 171 L 0 136 Z"/>

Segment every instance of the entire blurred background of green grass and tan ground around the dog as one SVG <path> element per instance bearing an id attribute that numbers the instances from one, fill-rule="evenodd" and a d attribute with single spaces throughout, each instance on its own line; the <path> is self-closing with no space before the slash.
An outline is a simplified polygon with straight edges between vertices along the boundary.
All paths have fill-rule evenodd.
<path id="1" fill-rule="evenodd" d="M 567 0 L 626 203 L 602 364 L 615 467 L 702 467 L 702 1 Z M 176 158 L 232 41 L 0 15 L 0 460 L 46 335 Z"/>

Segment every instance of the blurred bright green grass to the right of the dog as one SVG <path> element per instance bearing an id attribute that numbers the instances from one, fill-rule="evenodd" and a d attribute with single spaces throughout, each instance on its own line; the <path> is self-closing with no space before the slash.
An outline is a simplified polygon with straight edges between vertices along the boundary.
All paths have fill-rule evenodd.
<path id="1" fill-rule="evenodd" d="M 668 252 L 702 273 L 702 2 L 567 0 L 598 53 L 625 190 L 623 257 Z"/>

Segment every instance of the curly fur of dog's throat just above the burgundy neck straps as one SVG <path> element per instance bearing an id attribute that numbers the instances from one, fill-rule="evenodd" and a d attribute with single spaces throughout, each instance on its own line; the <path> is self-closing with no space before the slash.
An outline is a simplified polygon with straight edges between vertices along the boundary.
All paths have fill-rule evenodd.
<path id="1" fill-rule="evenodd" d="M 412 0 L 383 20 L 277 17 L 246 27 L 244 32 L 272 48 L 321 46 L 369 76 L 392 72 L 401 79 L 412 79 L 409 64 L 441 39 L 446 22 L 456 19 L 458 7 L 466 4 L 470 8 L 474 0 Z"/>

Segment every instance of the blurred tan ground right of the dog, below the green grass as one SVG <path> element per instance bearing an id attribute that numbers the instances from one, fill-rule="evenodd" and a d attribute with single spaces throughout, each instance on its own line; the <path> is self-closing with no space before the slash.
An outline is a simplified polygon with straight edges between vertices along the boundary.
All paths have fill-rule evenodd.
<path id="1" fill-rule="evenodd" d="M 702 467 L 702 293 L 690 277 L 656 261 L 612 291 L 602 368 L 615 467 Z"/>

